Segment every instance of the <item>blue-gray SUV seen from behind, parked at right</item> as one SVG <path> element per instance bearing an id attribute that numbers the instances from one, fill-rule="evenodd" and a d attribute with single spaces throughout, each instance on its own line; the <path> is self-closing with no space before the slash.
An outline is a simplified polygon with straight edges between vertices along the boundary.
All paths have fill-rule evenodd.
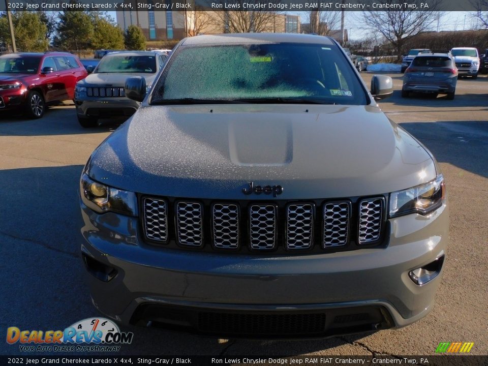
<path id="1" fill-rule="evenodd" d="M 402 97 L 410 92 L 446 94 L 454 99 L 457 84 L 457 68 L 454 59 L 445 53 L 419 54 L 405 70 Z"/>

